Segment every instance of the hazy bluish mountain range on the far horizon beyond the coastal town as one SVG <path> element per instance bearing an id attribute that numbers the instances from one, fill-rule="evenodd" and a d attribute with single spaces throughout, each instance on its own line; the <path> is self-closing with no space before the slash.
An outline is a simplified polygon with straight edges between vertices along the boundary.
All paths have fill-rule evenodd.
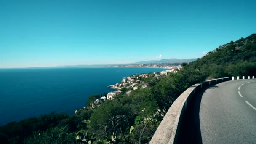
<path id="1" fill-rule="evenodd" d="M 192 58 L 192 59 L 171 58 L 171 59 L 161 59 L 161 60 L 151 60 L 151 61 L 139 61 L 131 64 L 176 63 L 176 62 L 192 62 L 196 60 L 197 60 L 196 58 Z"/>

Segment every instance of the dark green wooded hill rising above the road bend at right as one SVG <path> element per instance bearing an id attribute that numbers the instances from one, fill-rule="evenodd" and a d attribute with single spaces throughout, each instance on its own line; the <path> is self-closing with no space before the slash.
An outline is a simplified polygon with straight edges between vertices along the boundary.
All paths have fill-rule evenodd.
<path id="1" fill-rule="evenodd" d="M 186 67 L 198 69 L 208 79 L 256 75 L 256 34 L 219 46 Z"/>

